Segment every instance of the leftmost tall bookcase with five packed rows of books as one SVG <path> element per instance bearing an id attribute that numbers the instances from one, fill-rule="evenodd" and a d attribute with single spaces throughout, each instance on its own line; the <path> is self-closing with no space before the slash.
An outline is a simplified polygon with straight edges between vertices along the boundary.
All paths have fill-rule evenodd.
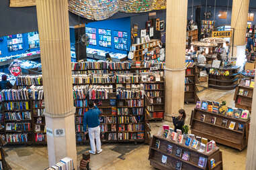
<path id="1" fill-rule="evenodd" d="M 2 90 L 1 97 L 7 144 L 33 143 L 32 109 L 28 90 Z"/>

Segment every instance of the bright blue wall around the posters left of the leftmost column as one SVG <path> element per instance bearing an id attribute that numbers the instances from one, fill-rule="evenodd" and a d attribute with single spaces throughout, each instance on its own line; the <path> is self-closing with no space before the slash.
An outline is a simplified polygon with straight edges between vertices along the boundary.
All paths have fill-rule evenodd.
<path id="1" fill-rule="evenodd" d="M 33 48 L 33 49 L 29 48 L 28 33 L 22 33 L 22 39 L 23 39 L 23 50 L 9 52 L 9 50 L 7 48 L 7 36 L 3 37 L 3 41 L 0 41 L 0 51 L 1 51 L 0 58 L 6 57 L 6 56 L 15 56 L 17 54 L 24 54 L 24 53 L 26 53 L 27 50 L 30 50 L 30 52 L 40 50 L 40 48 Z"/>

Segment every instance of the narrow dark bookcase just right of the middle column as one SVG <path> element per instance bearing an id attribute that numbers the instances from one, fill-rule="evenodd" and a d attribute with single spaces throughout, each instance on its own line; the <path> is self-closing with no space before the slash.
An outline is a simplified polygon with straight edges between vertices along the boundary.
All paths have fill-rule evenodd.
<path id="1" fill-rule="evenodd" d="M 184 102 L 196 102 L 196 66 L 193 61 L 186 62 Z"/>

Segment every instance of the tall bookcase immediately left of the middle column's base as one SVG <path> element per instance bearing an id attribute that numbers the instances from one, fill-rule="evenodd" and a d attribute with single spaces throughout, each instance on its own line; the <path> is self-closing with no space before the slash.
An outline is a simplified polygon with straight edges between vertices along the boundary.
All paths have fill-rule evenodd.
<path id="1" fill-rule="evenodd" d="M 165 113 L 165 81 L 161 72 L 142 73 L 145 91 L 146 120 L 163 120 Z"/>

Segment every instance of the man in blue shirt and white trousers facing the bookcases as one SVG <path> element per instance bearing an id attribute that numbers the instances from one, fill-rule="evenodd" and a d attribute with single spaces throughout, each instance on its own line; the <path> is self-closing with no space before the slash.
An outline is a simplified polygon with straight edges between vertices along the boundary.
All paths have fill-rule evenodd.
<path id="1" fill-rule="evenodd" d="M 89 153 L 95 154 L 95 139 L 96 139 L 96 148 L 97 154 L 102 152 L 101 141 L 100 141 L 100 127 L 99 127 L 99 116 L 101 116 L 101 111 L 97 108 L 96 104 L 92 101 L 89 101 L 89 110 L 83 115 L 83 129 L 85 134 L 87 134 L 87 125 L 89 139 L 91 143 L 91 151 Z"/>

